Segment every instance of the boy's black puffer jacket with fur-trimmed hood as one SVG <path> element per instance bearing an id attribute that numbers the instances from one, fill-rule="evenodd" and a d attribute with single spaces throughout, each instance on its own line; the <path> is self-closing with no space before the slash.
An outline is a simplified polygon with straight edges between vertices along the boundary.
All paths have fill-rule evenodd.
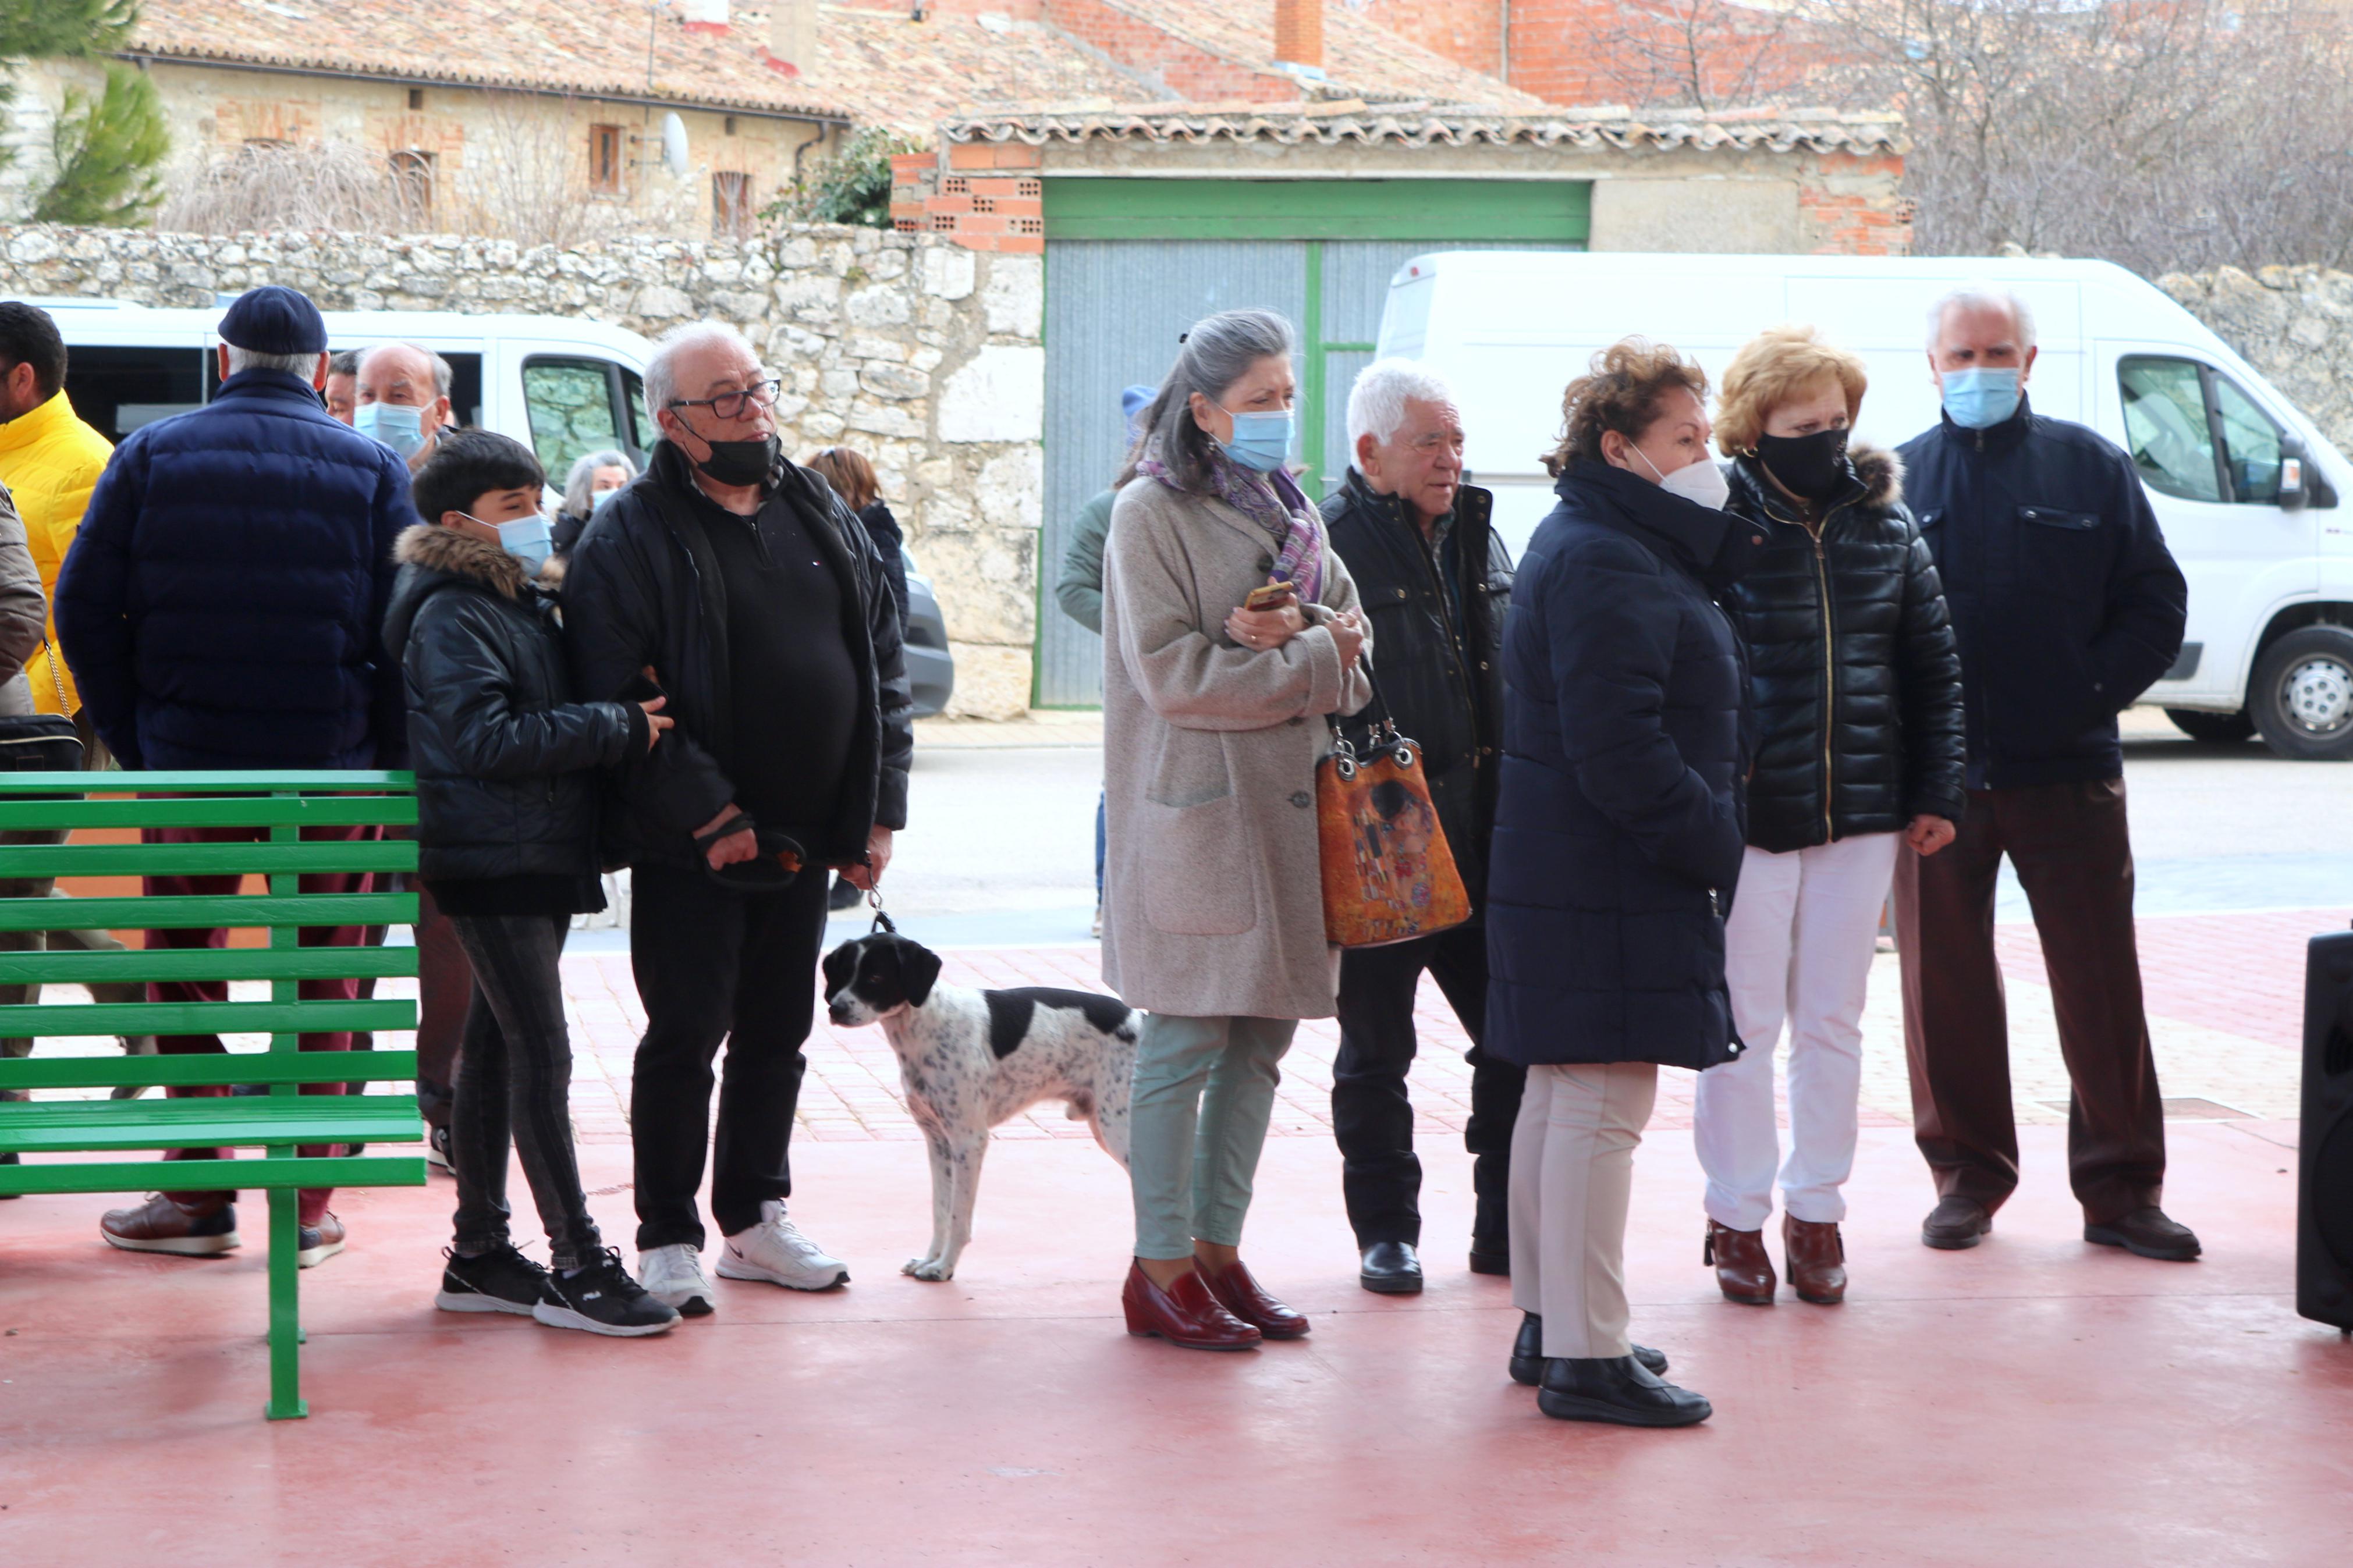
<path id="1" fill-rule="evenodd" d="M 645 750 L 645 710 L 572 701 L 555 602 L 499 545 L 414 527 L 395 555 L 384 646 L 409 696 L 419 875 L 595 877 L 595 769 Z"/>

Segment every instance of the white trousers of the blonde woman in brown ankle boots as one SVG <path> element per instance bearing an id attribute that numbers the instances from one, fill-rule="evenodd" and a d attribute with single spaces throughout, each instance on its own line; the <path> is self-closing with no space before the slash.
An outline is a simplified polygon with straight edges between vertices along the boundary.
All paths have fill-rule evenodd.
<path id="1" fill-rule="evenodd" d="M 1708 1173 L 1708 1218 L 1765 1229 L 1781 1140 L 1772 1058 L 1788 1023 L 1788 1164 L 1781 1206 L 1798 1220 L 1847 1218 L 1854 1103 L 1864 1081 L 1864 992 L 1901 835 L 1871 832 L 1772 856 L 1751 849 L 1725 922 L 1732 1023 L 1748 1046 L 1699 1074 L 1692 1135 Z"/>

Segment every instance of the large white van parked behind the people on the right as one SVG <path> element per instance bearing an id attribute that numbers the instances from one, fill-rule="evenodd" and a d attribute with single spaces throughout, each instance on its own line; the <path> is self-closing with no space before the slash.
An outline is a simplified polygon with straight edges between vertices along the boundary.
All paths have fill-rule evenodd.
<path id="1" fill-rule="evenodd" d="M 1991 282 L 2035 315 L 2038 414 L 2132 454 L 2191 583 L 2181 658 L 2144 701 L 2200 741 L 2261 731 L 2282 757 L 2353 757 L 2353 465 L 2198 317 L 2106 261 L 1442 252 L 1398 268 L 1384 355 L 1426 360 L 1464 402 L 1466 463 L 1518 550 L 1553 508 L 1539 454 L 1560 393 L 1621 336 L 1720 376 L 1765 327 L 1809 322 L 1864 355 L 1861 440 L 1939 418 L 1927 310 Z"/>

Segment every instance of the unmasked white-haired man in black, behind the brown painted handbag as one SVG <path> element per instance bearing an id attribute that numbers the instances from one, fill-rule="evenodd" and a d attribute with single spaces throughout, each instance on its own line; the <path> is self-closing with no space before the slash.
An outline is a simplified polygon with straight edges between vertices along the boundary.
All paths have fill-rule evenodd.
<path id="1" fill-rule="evenodd" d="M 1353 947 L 1339 966 L 1339 1058 L 1332 1133 L 1360 1251 L 1358 1284 L 1421 1291 L 1421 1161 L 1405 1074 L 1414 1065 L 1414 994 L 1428 971 L 1471 1032 L 1471 1121 L 1478 1215 L 1471 1269 L 1511 1272 L 1506 1213 L 1511 1124 L 1525 1070 L 1480 1048 L 1487 1025 L 1487 926 L 1478 917 L 1494 832 L 1504 729 L 1504 609 L 1511 555 L 1494 536 L 1494 498 L 1464 484 L 1464 421 L 1454 393 L 1414 360 L 1367 364 L 1348 393 L 1351 468 L 1322 503 L 1332 548 L 1348 562 L 1372 618 L 1379 698 L 1421 745 L 1424 780 L 1454 865 L 1471 891 L 1468 924 L 1388 947 Z"/>

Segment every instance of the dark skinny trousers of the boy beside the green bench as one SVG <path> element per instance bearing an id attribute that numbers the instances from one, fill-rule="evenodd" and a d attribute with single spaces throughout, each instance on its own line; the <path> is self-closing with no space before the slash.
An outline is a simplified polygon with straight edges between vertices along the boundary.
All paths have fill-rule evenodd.
<path id="1" fill-rule="evenodd" d="M 548 1262 L 584 1267 L 602 1246 L 572 1150 L 572 1037 L 565 1032 L 560 961 L 569 914 L 452 914 L 473 964 L 466 1046 L 449 1114 L 456 1175 L 456 1251 L 506 1246 L 506 1150 L 522 1157 Z"/>

